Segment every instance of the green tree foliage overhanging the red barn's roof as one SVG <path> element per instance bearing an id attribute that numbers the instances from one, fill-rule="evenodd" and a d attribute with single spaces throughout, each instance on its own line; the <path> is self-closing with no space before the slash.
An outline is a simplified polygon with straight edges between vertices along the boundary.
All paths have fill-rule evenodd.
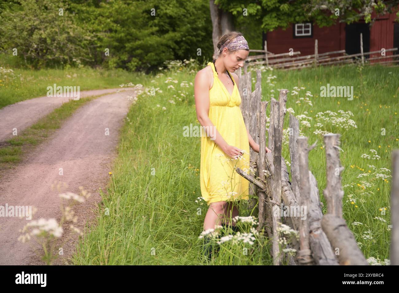
<path id="1" fill-rule="evenodd" d="M 349 24 L 361 18 L 372 23 L 373 11 L 379 15 L 392 12 L 398 8 L 399 0 L 215 0 L 215 4 L 236 17 L 252 18 L 267 32 L 306 21 L 313 21 L 319 27 L 337 21 Z"/>

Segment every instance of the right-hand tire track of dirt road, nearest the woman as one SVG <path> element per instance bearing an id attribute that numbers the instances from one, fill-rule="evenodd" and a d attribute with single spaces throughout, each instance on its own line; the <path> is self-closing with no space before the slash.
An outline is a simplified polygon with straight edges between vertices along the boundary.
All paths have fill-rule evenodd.
<path id="1" fill-rule="evenodd" d="M 34 206 L 37 208 L 33 220 L 55 218 L 59 222 L 61 212 L 57 191 L 51 190 L 54 181 L 67 183 L 69 191 L 79 194 L 79 186 L 91 193 L 91 197 L 73 210 L 78 223 L 73 223 L 83 231 L 86 222 L 95 219 L 93 210 L 101 201 L 99 187 L 109 182 L 108 172 L 119 142 L 119 130 L 126 116 L 131 100 L 128 95 L 136 95 L 138 90 L 107 94 L 81 106 L 69 117 L 49 140 L 40 144 L 24 162 L 6 173 L 0 184 L 0 205 Z M 109 128 L 109 135 L 105 135 Z M 63 168 L 63 175 L 59 175 Z M 17 239 L 23 226 L 29 222 L 25 218 L 0 217 L 0 265 L 43 264 L 34 254 L 32 239 L 26 243 Z M 64 233 L 69 232 L 69 224 L 64 225 Z M 63 237 L 65 237 L 63 234 Z M 74 252 L 74 239 L 63 246 L 63 258 Z M 30 243 L 32 242 L 32 243 Z M 61 264 L 58 262 L 58 264 Z"/>

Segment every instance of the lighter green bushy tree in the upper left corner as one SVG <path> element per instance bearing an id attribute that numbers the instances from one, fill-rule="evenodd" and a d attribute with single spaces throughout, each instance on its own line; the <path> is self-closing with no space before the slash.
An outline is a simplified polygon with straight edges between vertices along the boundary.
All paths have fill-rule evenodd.
<path id="1" fill-rule="evenodd" d="M 16 52 L 34 67 L 77 65 L 91 60 L 88 46 L 93 38 L 70 16 L 66 2 L 25 0 L 2 8 L 2 50 L 10 54 Z"/>

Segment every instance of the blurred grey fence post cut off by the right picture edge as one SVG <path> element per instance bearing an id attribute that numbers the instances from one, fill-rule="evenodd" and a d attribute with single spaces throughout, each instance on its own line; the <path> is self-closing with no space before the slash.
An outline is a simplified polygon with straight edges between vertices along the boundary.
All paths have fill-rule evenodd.
<path id="1" fill-rule="evenodd" d="M 391 265 L 399 265 L 399 149 L 392 152 L 391 180 Z"/>

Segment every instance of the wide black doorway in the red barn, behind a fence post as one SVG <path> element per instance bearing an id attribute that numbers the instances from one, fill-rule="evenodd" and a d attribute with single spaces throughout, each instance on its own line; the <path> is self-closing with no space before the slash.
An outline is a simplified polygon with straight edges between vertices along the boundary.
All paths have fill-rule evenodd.
<path id="1" fill-rule="evenodd" d="M 363 52 L 370 51 L 370 29 L 365 23 L 347 24 L 345 26 L 345 50 L 348 55 L 360 53 L 360 33 L 363 33 Z M 368 58 L 368 55 L 364 56 Z"/>

